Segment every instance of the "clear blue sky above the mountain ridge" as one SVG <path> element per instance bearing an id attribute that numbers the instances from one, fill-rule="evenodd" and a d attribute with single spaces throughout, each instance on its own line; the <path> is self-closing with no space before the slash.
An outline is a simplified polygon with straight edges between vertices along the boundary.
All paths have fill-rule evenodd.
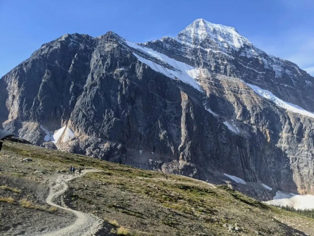
<path id="1" fill-rule="evenodd" d="M 0 77 L 65 33 L 133 42 L 176 36 L 193 20 L 233 26 L 257 47 L 314 75 L 313 0 L 0 0 Z"/>

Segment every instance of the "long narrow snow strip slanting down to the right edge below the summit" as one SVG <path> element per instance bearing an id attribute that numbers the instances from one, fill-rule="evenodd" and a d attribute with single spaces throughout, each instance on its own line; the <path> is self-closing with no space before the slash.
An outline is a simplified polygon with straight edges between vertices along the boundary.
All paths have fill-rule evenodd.
<path id="1" fill-rule="evenodd" d="M 262 96 L 263 98 L 266 98 L 266 99 L 272 101 L 273 103 L 275 103 L 279 107 L 282 107 L 286 110 L 289 110 L 289 111 L 292 111 L 295 113 L 299 113 L 301 115 L 306 115 L 306 116 L 314 118 L 314 113 L 307 111 L 307 110 L 303 109 L 302 107 L 299 107 L 298 105 L 295 105 L 295 104 L 292 104 L 289 102 L 285 102 L 285 101 L 281 100 L 280 98 L 276 97 L 275 95 L 273 95 L 273 93 L 271 93 L 268 90 L 262 89 L 260 87 L 257 87 L 256 85 L 252 85 L 249 83 L 246 83 L 246 85 L 251 87 L 255 93 Z"/>

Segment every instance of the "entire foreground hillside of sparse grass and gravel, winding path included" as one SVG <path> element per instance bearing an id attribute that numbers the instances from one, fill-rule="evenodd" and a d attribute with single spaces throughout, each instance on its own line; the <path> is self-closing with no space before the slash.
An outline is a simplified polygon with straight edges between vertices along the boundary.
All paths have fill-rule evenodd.
<path id="1" fill-rule="evenodd" d="M 70 165 L 86 174 L 71 177 Z M 312 218 L 226 186 L 167 176 L 6 142 L 0 153 L 0 235 L 314 235 Z"/>

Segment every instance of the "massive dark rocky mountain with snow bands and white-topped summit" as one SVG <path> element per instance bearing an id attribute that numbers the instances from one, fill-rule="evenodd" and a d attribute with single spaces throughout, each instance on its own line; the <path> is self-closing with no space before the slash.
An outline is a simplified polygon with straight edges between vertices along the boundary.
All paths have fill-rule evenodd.
<path id="1" fill-rule="evenodd" d="M 232 180 L 270 200 L 277 190 L 314 194 L 313 84 L 203 19 L 144 44 L 66 34 L 3 76 L 0 121 L 43 147 Z"/>

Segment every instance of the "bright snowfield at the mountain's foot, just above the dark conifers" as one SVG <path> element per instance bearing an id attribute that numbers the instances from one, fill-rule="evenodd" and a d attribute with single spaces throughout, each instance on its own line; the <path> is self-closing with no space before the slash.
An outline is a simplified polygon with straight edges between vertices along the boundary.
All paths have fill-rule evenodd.
<path id="1" fill-rule="evenodd" d="M 300 195 L 284 191 L 277 191 L 273 200 L 264 202 L 268 205 L 290 206 L 295 209 L 314 209 L 314 196 L 310 194 Z"/>

